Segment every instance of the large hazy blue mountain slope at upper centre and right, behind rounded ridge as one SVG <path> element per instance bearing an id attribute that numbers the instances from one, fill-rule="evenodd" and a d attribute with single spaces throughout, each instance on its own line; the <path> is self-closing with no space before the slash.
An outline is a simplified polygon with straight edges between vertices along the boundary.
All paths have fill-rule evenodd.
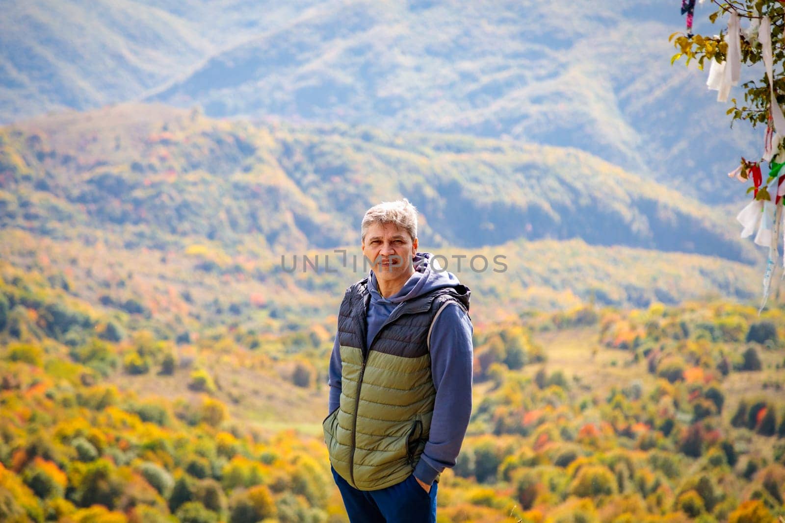
<path id="1" fill-rule="evenodd" d="M 737 198 L 717 175 L 757 152 L 752 133 L 728 129 L 704 74 L 670 66 L 677 10 L 626 7 L 325 2 L 149 100 L 577 147 L 706 202 Z"/>

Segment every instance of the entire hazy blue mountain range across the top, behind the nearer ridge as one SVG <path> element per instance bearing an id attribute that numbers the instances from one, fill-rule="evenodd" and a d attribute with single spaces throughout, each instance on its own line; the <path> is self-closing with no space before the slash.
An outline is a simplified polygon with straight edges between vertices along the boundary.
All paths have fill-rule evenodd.
<path id="1" fill-rule="evenodd" d="M 715 31 L 700 27 L 705 15 L 699 30 Z M 670 66 L 667 35 L 684 22 L 654 0 L 127 0 L 92 11 L 36 0 L 13 2 L 2 24 L 5 121 L 144 98 L 211 116 L 509 137 L 575 147 L 711 203 L 739 201 L 724 174 L 760 149 L 749 129 L 728 129 L 706 73 Z"/>

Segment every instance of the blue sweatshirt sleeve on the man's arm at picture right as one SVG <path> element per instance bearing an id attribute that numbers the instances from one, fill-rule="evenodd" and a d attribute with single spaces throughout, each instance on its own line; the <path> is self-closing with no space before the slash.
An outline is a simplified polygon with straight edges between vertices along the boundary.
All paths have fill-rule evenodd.
<path id="1" fill-rule="evenodd" d="M 426 484 L 455 467 L 472 413 L 473 326 L 458 303 L 444 307 L 431 331 L 431 375 L 436 388 L 428 442 L 414 468 Z"/>

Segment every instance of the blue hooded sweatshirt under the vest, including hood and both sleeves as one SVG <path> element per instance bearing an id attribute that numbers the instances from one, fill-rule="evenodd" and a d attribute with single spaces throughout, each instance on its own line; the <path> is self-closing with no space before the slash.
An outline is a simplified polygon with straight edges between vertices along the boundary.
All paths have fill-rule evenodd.
<path id="1" fill-rule="evenodd" d="M 435 289 L 455 287 L 460 281 L 447 271 L 433 271 L 430 252 L 414 256 L 414 273 L 399 292 L 385 298 L 378 291 L 376 276 L 370 271 L 368 289 L 367 346 L 376 336 L 392 311 L 400 303 L 422 296 Z M 439 314 L 431 332 L 431 376 L 436 389 L 429 440 L 414 469 L 414 476 L 430 485 L 446 467 L 455 467 L 461 450 L 469 416 L 472 412 L 472 345 L 473 326 L 469 316 L 457 303 L 451 303 Z M 341 398 L 341 352 L 335 336 L 330 356 L 330 401 L 328 412 L 338 409 Z"/>

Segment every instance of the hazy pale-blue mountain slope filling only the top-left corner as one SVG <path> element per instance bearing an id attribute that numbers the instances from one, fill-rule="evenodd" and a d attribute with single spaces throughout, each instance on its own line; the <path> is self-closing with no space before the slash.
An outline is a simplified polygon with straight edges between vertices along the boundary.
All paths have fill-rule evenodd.
<path id="1" fill-rule="evenodd" d="M 210 53 L 177 18 L 137 2 L 3 2 L 0 120 L 130 100 Z"/>

